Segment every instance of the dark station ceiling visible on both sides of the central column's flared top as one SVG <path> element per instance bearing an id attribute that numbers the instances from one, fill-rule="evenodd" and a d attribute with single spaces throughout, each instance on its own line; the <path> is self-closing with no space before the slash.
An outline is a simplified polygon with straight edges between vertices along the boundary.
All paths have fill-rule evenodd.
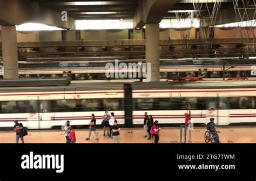
<path id="1" fill-rule="evenodd" d="M 57 12 L 67 11 L 74 19 L 133 19 L 139 3 L 145 0 L 33 0 L 40 5 Z M 149 0 L 146 0 L 149 1 Z M 208 2 L 211 8 L 212 0 L 180 0 L 174 4 L 172 10 L 194 10 L 193 2 Z M 221 2 L 221 9 L 232 8 L 232 0 L 217 0 Z M 165 18 L 176 18 L 175 13 L 166 12 Z"/>

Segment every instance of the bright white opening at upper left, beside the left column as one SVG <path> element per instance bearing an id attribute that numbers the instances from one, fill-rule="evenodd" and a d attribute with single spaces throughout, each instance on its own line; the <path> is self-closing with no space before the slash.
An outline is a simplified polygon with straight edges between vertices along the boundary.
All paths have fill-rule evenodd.
<path id="1" fill-rule="evenodd" d="M 64 30 L 55 26 L 48 26 L 39 23 L 25 23 L 16 26 L 17 31 L 52 31 L 52 30 Z"/>

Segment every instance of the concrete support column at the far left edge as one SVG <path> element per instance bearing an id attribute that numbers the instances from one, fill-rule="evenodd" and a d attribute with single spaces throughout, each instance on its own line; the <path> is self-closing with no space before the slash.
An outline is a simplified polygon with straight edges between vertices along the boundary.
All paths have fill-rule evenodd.
<path id="1" fill-rule="evenodd" d="M 18 79 L 16 26 L 2 26 L 4 79 Z"/>

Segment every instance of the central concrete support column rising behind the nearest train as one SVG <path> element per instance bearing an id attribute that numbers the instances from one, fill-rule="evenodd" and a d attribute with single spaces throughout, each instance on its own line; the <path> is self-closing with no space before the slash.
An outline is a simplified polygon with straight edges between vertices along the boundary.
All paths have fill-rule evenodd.
<path id="1" fill-rule="evenodd" d="M 151 82 L 160 81 L 159 24 L 146 24 L 146 63 L 151 64 Z"/>

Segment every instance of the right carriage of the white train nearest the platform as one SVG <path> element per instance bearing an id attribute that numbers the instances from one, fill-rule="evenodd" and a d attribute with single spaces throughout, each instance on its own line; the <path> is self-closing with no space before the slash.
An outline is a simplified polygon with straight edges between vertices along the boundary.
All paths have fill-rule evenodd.
<path id="1" fill-rule="evenodd" d="M 218 125 L 256 122 L 253 82 L 208 81 L 133 89 L 133 124 L 143 123 L 144 112 L 160 123 L 184 123 L 184 114 L 189 109 L 193 123 L 206 124 L 210 117 L 215 117 Z"/>

